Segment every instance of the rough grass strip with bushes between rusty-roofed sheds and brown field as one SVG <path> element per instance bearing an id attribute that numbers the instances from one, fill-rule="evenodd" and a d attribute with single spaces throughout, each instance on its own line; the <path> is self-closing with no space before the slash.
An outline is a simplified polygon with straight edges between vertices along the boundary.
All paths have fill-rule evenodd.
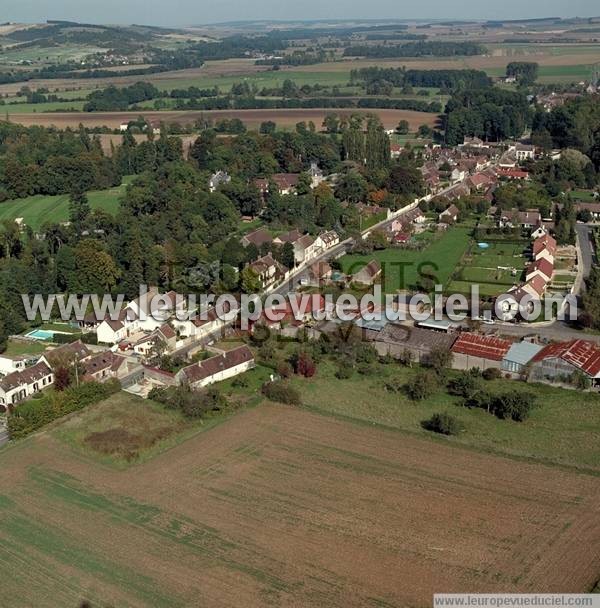
<path id="1" fill-rule="evenodd" d="M 322 362 L 314 378 L 292 381 L 302 393 L 303 405 L 365 424 L 430 436 L 422 429 L 421 422 L 434 413 L 448 412 L 460 421 L 464 430 L 457 437 L 443 438 L 444 441 L 580 467 L 600 475 L 598 395 L 509 380 L 486 383 L 486 388 L 493 391 L 517 389 L 536 395 L 539 407 L 529 420 L 517 423 L 499 420 L 483 410 L 464 408 L 459 398 L 448 395 L 442 388 L 424 402 L 413 402 L 402 393 L 385 390 L 386 378 L 408 380 L 416 369 L 399 364 L 378 365 L 375 373 L 363 376 L 355 372 L 348 380 L 335 378 L 335 369 L 334 364 Z"/>

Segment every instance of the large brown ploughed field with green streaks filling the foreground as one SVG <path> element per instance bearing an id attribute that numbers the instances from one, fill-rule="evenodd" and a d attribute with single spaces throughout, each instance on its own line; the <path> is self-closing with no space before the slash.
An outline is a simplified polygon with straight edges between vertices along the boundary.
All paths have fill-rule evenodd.
<path id="1" fill-rule="evenodd" d="M 0 488 L 6 606 L 425 606 L 600 575 L 599 478 L 284 406 L 124 470 L 46 432 L 0 453 Z"/>

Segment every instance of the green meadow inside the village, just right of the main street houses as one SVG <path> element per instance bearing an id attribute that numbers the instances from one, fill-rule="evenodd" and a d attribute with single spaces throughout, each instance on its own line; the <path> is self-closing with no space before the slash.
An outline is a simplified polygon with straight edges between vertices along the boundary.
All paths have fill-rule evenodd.
<path id="1" fill-rule="evenodd" d="M 408 290 L 418 283 L 422 274 L 435 276 L 436 284 L 446 285 L 470 241 L 470 229 L 457 226 L 443 234 L 423 251 L 385 249 L 370 255 L 346 255 L 340 259 L 342 272 L 354 274 L 372 259 L 383 267 L 385 293 Z"/>

